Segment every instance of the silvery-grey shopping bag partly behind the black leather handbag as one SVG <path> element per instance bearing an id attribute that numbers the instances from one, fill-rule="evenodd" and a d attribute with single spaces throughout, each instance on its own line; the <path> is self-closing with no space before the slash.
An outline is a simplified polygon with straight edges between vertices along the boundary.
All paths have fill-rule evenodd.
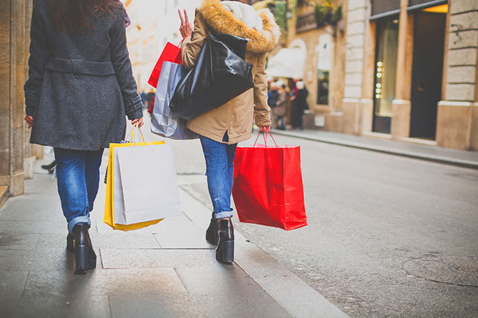
<path id="1" fill-rule="evenodd" d="M 174 90 L 182 77 L 182 66 L 164 61 L 159 75 L 154 109 L 151 117 L 151 131 L 161 137 L 172 139 L 196 139 L 199 136 L 186 127 L 186 121 L 180 119 L 169 108 Z"/>

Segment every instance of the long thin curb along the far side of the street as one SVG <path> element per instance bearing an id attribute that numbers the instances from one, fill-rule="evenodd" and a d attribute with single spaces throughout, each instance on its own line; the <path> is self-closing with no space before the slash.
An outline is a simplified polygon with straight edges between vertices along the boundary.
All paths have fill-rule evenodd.
<path id="1" fill-rule="evenodd" d="M 347 146 L 347 147 L 351 147 L 355 149 L 370 150 L 370 151 L 375 151 L 379 153 L 388 153 L 390 155 L 414 158 L 414 159 L 425 160 L 430 162 L 438 162 L 438 163 L 443 163 L 445 165 L 454 165 L 457 167 L 478 169 L 478 162 L 473 162 L 468 160 L 459 160 L 459 159 L 451 159 L 451 158 L 445 158 L 440 156 L 423 155 L 421 153 L 416 153 L 412 151 L 400 151 L 400 150 L 389 149 L 389 148 L 384 148 L 380 146 L 358 144 L 356 142 L 337 141 L 334 139 L 328 139 L 324 137 L 314 137 L 309 135 L 303 135 L 296 132 L 288 132 L 284 130 L 271 129 L 270 131 L 274 132 L 275 135 L 283 135 L 288 137 L 307 139 L 307 140 L 312 140 L 314 142 L 324 142 L 325 144 L 335 144 L 338 146 Z"/>

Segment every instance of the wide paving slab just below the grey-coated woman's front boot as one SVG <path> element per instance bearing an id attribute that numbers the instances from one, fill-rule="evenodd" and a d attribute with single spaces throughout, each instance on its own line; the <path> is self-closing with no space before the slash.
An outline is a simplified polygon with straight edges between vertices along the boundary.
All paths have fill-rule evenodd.
<path id="1" fill-rule="evenodd" d="M 173 268 L 30 271 L 23 298 L 187 294 Z"/>

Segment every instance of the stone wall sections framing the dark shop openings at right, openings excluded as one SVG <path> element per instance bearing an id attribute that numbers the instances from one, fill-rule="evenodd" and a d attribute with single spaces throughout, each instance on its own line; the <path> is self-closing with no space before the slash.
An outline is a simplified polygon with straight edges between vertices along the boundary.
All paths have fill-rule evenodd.
<path id="1" fill-rule="evenodd" d="M 375 22 L 368 20 L 371 1 L 349 0 L 348 3 L 343 114 L 335 127 L 327 130 L 379 136 L 371 132 L 375 76 Z M 407 6 L 407 0 L 400 1 L 396 99 L 393 100 L 391 134 L 388 137 L 414 141 L 409 138 L 414 15 L 407 11 Z M 436 144 L 478 150 L 478 1 L 449 0 L 448 6 Z"/>

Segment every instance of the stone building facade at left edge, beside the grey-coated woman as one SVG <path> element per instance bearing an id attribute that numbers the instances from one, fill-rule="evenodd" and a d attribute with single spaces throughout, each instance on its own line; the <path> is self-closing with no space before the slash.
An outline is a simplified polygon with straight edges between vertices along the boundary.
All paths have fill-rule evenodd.
<path id="1" fill-rule="evenodd" d="M 0 1 L 0 206 L 8 196 L 24 192 L 24 179 L 33 177 L 34 159 L 43 157 L 40 146 L 29 144 L 23 120 L 33 3 Z"/>

